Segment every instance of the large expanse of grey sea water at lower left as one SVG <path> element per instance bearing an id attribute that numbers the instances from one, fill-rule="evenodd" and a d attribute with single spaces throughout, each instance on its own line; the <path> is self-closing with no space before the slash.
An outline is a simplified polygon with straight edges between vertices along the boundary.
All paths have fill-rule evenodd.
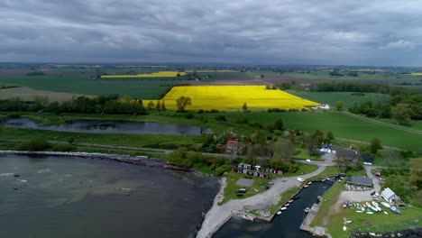
<path id="1" fill-rule="evenodd" d="M 191 237 L 217 187 L 148 165 L 2 156 L 0 237 Z"/>

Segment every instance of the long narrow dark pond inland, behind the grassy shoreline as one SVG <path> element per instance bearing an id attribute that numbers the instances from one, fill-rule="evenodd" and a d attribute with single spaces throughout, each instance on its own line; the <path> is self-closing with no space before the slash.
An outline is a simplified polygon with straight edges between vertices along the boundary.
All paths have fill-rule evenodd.
<path id="1" fill-rule="evenodd" d="M 130 121 L 75 120 L 65 124 L 44 126 L 29 118 L 8 119 L 5 127 L 42 129 L 69 133 L 133 133 L 133 134 L 191 134 L 200 135 L 201 127 L 178 124 L 157 124 Z"/>

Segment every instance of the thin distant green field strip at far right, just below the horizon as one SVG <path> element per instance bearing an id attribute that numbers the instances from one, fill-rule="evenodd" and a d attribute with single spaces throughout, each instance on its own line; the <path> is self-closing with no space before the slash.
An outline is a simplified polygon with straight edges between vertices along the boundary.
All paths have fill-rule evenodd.
<path id="1" fill-rule="evenodd" d="M 311 72 L 309 74 L 302 74 L 302 73 L 285 73 L 285 76 L 291 78 L 306 78 L 306 79 L 333 79 L 333 80 L 386 80 L 386 81 L 398 81 L 398 80 L 420 80 L 422 77 L 420 76 L 413 76 L 408 74 L 375 74 L 375 75 L 367 75 L 359 73 L 359 76 L 331 76 L 328 74 L 328 71 L 318 71 L 318 72 Z"/>

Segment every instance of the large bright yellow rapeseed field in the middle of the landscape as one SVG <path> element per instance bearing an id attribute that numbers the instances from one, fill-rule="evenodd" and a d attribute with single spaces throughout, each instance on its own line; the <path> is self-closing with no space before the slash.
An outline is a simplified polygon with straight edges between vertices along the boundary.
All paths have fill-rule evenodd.
<path id="1" fill-rule="evenodd" d="M 279 89 L 266 89 L 265 86 L 173 87 L 161 102 L 165 103 L 166 108 L 177 110 L 176 100 L 180 96 L 188 96 L 192 101 L 192 105 L 188 105 L 186 110 L 242 111 L 244 103 L 252 111 L 268 108 L 301 110 L 307 109 L 307 106 L 319 105 Z M 143 105 L 148 105 L 150 101 L 154 104 L 157 102 L 157 100 L 143 100 Z"/>

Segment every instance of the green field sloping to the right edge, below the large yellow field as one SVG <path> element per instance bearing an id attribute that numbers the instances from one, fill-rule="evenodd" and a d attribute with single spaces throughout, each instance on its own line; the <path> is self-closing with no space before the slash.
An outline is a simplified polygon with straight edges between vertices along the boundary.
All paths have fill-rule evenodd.
<path id="1" fill-rule="evenodd" d="M 283 120 L 289 129 L 312 132 L 320 130 L 324 133 L 332 131 L 335 137 L 370 142 L 374 137 L 381 144 L 406 150 L 417 150 L 422 147 L 422 136 L 380 124 L 364 122 L 345 114 L 335 112 L 289 112 L 289 113 L 250 113 L 226 114 L 228 118 L 248 118 L 261 124 L 273 124 L 277 118 Z"/>

